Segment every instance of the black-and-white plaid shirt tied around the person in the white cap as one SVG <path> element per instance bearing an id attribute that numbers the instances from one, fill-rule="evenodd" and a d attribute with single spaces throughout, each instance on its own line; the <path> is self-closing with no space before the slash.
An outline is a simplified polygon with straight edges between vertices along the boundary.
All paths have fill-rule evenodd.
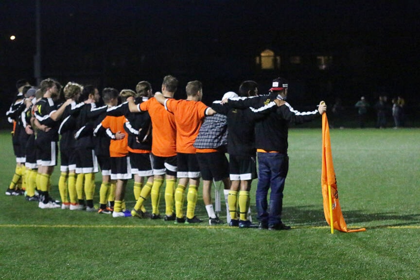
<path id="1" fill-rule="evenodd" d="M 216 149 L 227 144 L 227 116 L 207 116 L 195 139 L 197 149 Z"/>

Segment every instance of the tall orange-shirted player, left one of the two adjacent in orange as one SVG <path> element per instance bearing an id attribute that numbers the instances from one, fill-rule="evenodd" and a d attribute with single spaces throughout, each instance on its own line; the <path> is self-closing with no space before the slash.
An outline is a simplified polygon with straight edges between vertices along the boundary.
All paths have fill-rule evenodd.
<path id="1" fill-rule="evenodd" d="M 166 98 L 173 98 L 178 87 L 178 80 L 171 75 L 163 78 L 162 94 Z M 169 113 L 157 102 L 155 97 L 135 104 L 129 102 L 131 112 L 147 111 L 152 121 L 152 166 L 153 186 L 151 190 L 152 219 L 159 219 L 160 187 L 166 176 L 165 188 L 165 221 L 174 221 L 174 188 L 176 182 L 176 124 L 174 114 Z"/>

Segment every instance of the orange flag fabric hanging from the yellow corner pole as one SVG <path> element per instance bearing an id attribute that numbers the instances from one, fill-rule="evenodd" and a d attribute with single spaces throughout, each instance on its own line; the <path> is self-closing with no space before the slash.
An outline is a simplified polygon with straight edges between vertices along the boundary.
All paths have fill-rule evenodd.
<path id="1" fill-rule="evenodd" d="M 331 186 L 331 201 L 333 212 L 333 227 L 344 232 L 365 231 L 366 228 L 348 229 L 341 212 L 340 202 L 338 200 L 337 180 L 333 165 L 333 155 L 331 153 L 330 127 L 328 125 L 327 114 L 322 115 L 322 173 L 321 186 L 322 197 L 324 202 L 324 215 L 327 223 L 330 222 L 330 197 L 328 194 L 328 186 Z"/>

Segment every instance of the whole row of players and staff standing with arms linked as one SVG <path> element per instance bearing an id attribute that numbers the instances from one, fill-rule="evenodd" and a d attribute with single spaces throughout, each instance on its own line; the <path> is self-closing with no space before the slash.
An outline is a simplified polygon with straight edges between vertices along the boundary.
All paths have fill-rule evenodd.
<path id="1" fill-rule="evenodd" d="M 289 168 L 288 126 L 311 121 L 326 110 L 323 102 L 313 111 L 293 109 L 285 101 L 288 84 L 283 78 L 273 80 L 266 95 L 258 94 L 256 82 L 244 81 L 239 95 L 227 92 L 211 106 L 201 102 L 199 81 L 187 84 L 185 100 L 175 100 L 178 81 L 171 75 L 164 77 L 161 91 L 154 94 L 147 81 L 139 82 L 135 90 L 104 88 L 102 94 L 94 86 L 69 82 L 61 104 L 61 85 L 53 79 L 43 80 L 38 88 L 19 80 L 17 88 L 16 101 L 6 113 L 14 124 L 17 161 L 6 195 L 25 195 L 40 209 L 163 218 L 177 224 L 202 222 L 195 215 L 202 178 L 210 225 L 223 223 L 210 195 L 213 182 L 222 181 L 229 226 L 290 229 L 281 220 Z M 98 105 L 101 97 L 104 105 Z M 50 195 L 58 156 L 61 201 Z M 99 170 L 97 209 L 94 193 Z M 254 225 L 248 213 L 251 183 L 257 177 L 259 225 Z M 124 201 L 129 179 L 134 179 L 136 200 L 131 210 Z M 164 184 L 165 214 L 161 216 Z M 151 212 L 143 205 L 149 197 Z"/>

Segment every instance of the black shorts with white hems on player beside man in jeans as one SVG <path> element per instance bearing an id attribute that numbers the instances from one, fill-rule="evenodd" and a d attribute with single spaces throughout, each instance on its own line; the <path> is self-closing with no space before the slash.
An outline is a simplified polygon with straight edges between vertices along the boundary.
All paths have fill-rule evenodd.
<path id="1" fill-rule="evenodd" d="M 229 155 L 230 180 L 252 180 L 257 178 L 255 157 Z"/>

